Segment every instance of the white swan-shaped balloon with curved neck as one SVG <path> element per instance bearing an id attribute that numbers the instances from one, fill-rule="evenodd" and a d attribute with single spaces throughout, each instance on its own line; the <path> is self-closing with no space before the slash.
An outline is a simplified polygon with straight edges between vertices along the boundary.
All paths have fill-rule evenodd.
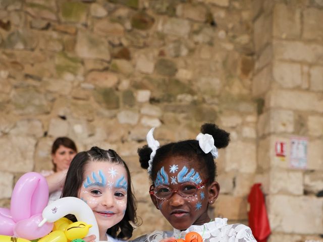
<path id="1" fill-rule="evenodd" d="M 99 229 L 92 209 L 81 199 L 75 197 L 60 198 L 44 208 L 42 211 L 43 220 L 38 224 L 42 226 L 45 222 L 55 222 L 67 214 L 73 214 L 78 221 L 92 224 L 87 236 L 94 234 L 95 241 L 99 241 Z"/>

